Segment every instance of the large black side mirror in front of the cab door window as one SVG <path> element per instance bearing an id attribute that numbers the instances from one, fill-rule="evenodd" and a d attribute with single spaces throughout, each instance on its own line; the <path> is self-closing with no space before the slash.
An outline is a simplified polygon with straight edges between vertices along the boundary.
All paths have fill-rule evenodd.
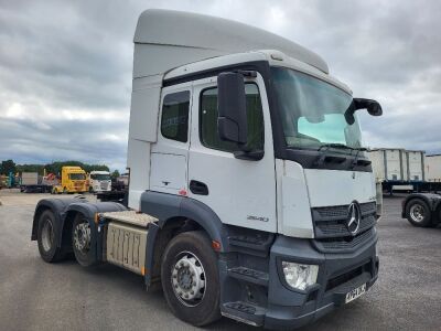
<path id="1" fill-rule="evenodd" d="M 247 108 L 244 75 L 220 73 L 217 76 L 217 130 L 219 138 L 247 143 Z"/>

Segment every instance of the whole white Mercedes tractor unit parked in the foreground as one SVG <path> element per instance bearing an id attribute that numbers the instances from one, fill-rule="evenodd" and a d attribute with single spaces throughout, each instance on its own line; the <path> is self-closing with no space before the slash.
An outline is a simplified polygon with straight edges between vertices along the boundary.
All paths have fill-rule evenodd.
<path id="1" fill-rule="evenodd" d="M 135 33 L 128 205 L 42 200 L 54 263 L 110 263 L 171 311 L 295 328 L 378 276 L 376 190 L 353 98 L 306 49 L 213 17 L 147 10 Z"/>

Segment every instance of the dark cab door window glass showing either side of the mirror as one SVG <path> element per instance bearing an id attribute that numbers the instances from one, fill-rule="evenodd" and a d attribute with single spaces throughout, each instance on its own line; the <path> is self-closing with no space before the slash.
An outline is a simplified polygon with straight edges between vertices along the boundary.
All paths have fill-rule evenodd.
<path id="1" fill-rule="evenodd" d="M 263 115 L 259 89 L 256 84 L 248 83 L 245 85 L 245 93 L 248 119 L 247 147 L 259 150 L 263 148 Z M 200 124 L 202 145 L 223 151 L 237 150 L 235 142 L 220 140 L 217 131 L 217 87 L 201 93 Z"/>

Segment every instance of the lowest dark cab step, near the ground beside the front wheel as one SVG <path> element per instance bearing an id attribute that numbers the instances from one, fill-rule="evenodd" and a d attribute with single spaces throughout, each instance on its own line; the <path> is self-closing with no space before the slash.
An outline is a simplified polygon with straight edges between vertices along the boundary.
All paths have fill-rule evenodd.
<path id="1" fill-rule="evenodd" d="M 248 302 L 235 301 L 222 305 L 220 313 L 239 322 L 261 327 L 266 309 Z"/>

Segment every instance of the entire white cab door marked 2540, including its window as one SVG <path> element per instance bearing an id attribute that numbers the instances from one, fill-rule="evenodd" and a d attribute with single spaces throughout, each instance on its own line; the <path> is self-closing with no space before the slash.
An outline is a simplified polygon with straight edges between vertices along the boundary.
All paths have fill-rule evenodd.
<path id="1" fill-rule="evenodd" d="M 225 224 L 277 232 L 271 122 L 262 77 L 246 78 L 247 145 L 265 151 L 258 161 L 236 159 L 237 146 L 217 131 L 217 78 L 193 83 L 189 196 Z"/>

